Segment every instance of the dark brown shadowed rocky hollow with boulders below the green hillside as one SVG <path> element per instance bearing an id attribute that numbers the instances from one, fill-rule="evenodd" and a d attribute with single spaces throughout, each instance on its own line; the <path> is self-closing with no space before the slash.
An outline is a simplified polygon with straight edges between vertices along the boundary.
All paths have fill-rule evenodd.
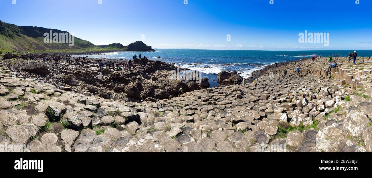
<path id="1" fill-rule="evenodd" d="M 26 54 L 1 61 L 23 78 L 33 78 L 43 83 L 50 83 L 62 90 L 71 90 L 84 95 L 99 95 L 105 99 L 126 101 L 157 101 L 159 99 L 177 96 L 182 86 L 183 92 L 193 91 L 209 86 L 208 79 L 202 78 L 201 83 L 195 80 L 169 80 L 172 71 L 177 67 L 158 60 L 138 59 L 133 61 L 131 70 L 116 67 L 116 63 L 127 63 L 128 60 L 88 58 L 80 59 L 78 63 L 68 63 L 65 58 L 73 59 L 74 54 Z M 54 58 L 54 61 L 43 61 L 43 57 Z M 16 56 L 13 56 L 16 57 Z M 29 60 L 35 58 L 36 60 Z M 58 63 L 55 59 L 58 59 Z M 99 67 L 99 61 L 104 67 Z M 183 69 L 179 69 L 183 70 Z M 128 87 L 126 87 L 128 86 Z M 133 87 L 134 86 L 134 87 Z"/>

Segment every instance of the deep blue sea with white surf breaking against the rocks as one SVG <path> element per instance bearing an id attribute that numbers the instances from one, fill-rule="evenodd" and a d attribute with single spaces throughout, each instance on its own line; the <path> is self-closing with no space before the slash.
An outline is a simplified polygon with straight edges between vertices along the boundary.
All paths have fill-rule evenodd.
<path id="1" fill-rule="evenodd" d="M 236 70 L 243 78 L 253 71 L 281 61 L 296 61 L 313 55 L 327 57 L 338 54 L 346 57 L 354 50 L 319 50 L 319 51 L 253 51 L 253 50 L 194 50 L 194 49 L 155 49 L 155 52 L 117 51 L 88 55 L 89 58 L 132 59 L 139 54 L 148 59 L 174 63 L 174 66 L 198 70 L 209 79 L 211 87 L 219 86 L 217 74 L 223 70 Z M 372 56 L 372 50 L 357 50 L 358 56 Z M 85 56 L 85 55 L 77 55 Z M 160 57 L 160 58 L 158 58 Z"/>

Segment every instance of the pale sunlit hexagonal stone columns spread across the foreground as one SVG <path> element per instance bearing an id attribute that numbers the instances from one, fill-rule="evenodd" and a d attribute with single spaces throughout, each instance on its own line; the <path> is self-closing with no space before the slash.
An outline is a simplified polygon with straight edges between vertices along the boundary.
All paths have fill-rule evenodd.
<path id="1" fill-rule="evenodd" d="M 334 60 L 330 71 L 326 58 L 304 59 L 299 75 L 298 61 L 274 64 L 245 86 L 141 102 L 61 90 L 3 63 L 0 144 L 30 144 L 31 152 L 371 152 L 372 57 Z"/>

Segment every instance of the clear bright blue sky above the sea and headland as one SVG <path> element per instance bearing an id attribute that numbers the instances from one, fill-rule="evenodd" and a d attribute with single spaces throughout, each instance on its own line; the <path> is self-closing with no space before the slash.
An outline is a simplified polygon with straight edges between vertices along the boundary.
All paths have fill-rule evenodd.
<path id="1" fill-rule="evenodd" d="M 372 50 L 372 0 L 13 1 L 0 1 L 0 20 L 68 31 L 96 45 L 128 45 L 144 35 L 153 48 Z M 305 30 L 329 33 L 329 45 L 299 43 Z"/>

